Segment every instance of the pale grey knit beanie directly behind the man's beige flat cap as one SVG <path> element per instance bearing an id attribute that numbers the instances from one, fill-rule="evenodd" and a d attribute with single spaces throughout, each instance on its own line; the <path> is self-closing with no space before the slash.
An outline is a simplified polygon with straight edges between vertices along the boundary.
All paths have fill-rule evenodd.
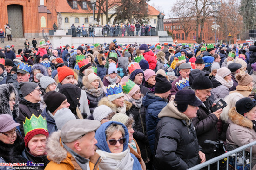
<path id="1" fill-rule="evenodd" d="M 58 130 L 61 130 L 61 128 L 69 121 L 69 120 L 75 120 L 74 114 L 71 112 L 68 108 L 62 108 L 60 110 L 57 110 L 57 112 L 54 115 L 55 124 L 57 126 Z"/>

